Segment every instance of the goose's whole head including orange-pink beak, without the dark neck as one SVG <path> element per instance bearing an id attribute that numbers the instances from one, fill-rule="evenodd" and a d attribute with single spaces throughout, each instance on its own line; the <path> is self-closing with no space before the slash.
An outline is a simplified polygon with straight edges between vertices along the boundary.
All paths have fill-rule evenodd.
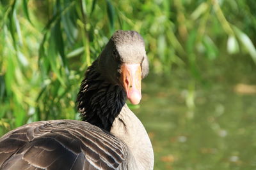
<path id="1" fill-rule="evenodd" d="M 132 104 L 140 103 L 141 78 L 148 74 L 145 43 L 136 31 L 116 31 L 99 56 L 99 71 L 120 85 Z"/>

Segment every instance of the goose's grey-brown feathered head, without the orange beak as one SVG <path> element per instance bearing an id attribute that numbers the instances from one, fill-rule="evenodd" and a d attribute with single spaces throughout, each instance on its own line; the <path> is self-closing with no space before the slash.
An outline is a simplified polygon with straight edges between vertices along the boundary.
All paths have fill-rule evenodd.
<path id="1" fill-rule="evenodd" d="M 122 64 L 141 64 L 142 78 L 148 74 L 145 43 L 136 31 L 116 31 L 100 54 L 100 72 L 107 74 L 111 81 Z"/>

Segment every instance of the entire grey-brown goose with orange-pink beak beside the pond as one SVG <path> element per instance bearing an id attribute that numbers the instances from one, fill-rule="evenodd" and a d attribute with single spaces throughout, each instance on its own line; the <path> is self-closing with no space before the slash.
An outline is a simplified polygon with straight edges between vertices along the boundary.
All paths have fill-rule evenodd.
<path id="1" fill-rule="evenodd" d="M 116 31 L 81 82 L 82 121 L 39 121 L 8 132 L 0 138 L 0 169 L 153 169 L 147 131 L 125 103 L 140 103 L 147 74 L 141 35 Z"/>

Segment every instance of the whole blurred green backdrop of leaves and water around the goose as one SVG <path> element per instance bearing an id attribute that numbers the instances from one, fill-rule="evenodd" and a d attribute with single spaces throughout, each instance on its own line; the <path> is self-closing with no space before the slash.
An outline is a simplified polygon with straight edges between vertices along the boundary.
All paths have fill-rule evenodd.
<path id="1" fill-rule="evenodd" d="M 118 29 L 145 39 L 150 74 L 131 107 L 155 169 L 256 169 L 254 0 L 1 0 L 0 135 L 79 119 L 84 71 Z"/>

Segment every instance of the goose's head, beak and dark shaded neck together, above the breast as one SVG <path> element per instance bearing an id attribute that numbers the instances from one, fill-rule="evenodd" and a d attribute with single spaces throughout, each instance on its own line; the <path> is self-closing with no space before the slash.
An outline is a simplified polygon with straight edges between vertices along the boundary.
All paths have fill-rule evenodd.
<path id="1" fill-rule="evenodd" d="M 141 78 L 147 74 L 143 38 L 136 31 L 116 31 L 81 83 L 77 108 L 82 120 L 110 131 L 126 99 L 140 103 Z"/>

